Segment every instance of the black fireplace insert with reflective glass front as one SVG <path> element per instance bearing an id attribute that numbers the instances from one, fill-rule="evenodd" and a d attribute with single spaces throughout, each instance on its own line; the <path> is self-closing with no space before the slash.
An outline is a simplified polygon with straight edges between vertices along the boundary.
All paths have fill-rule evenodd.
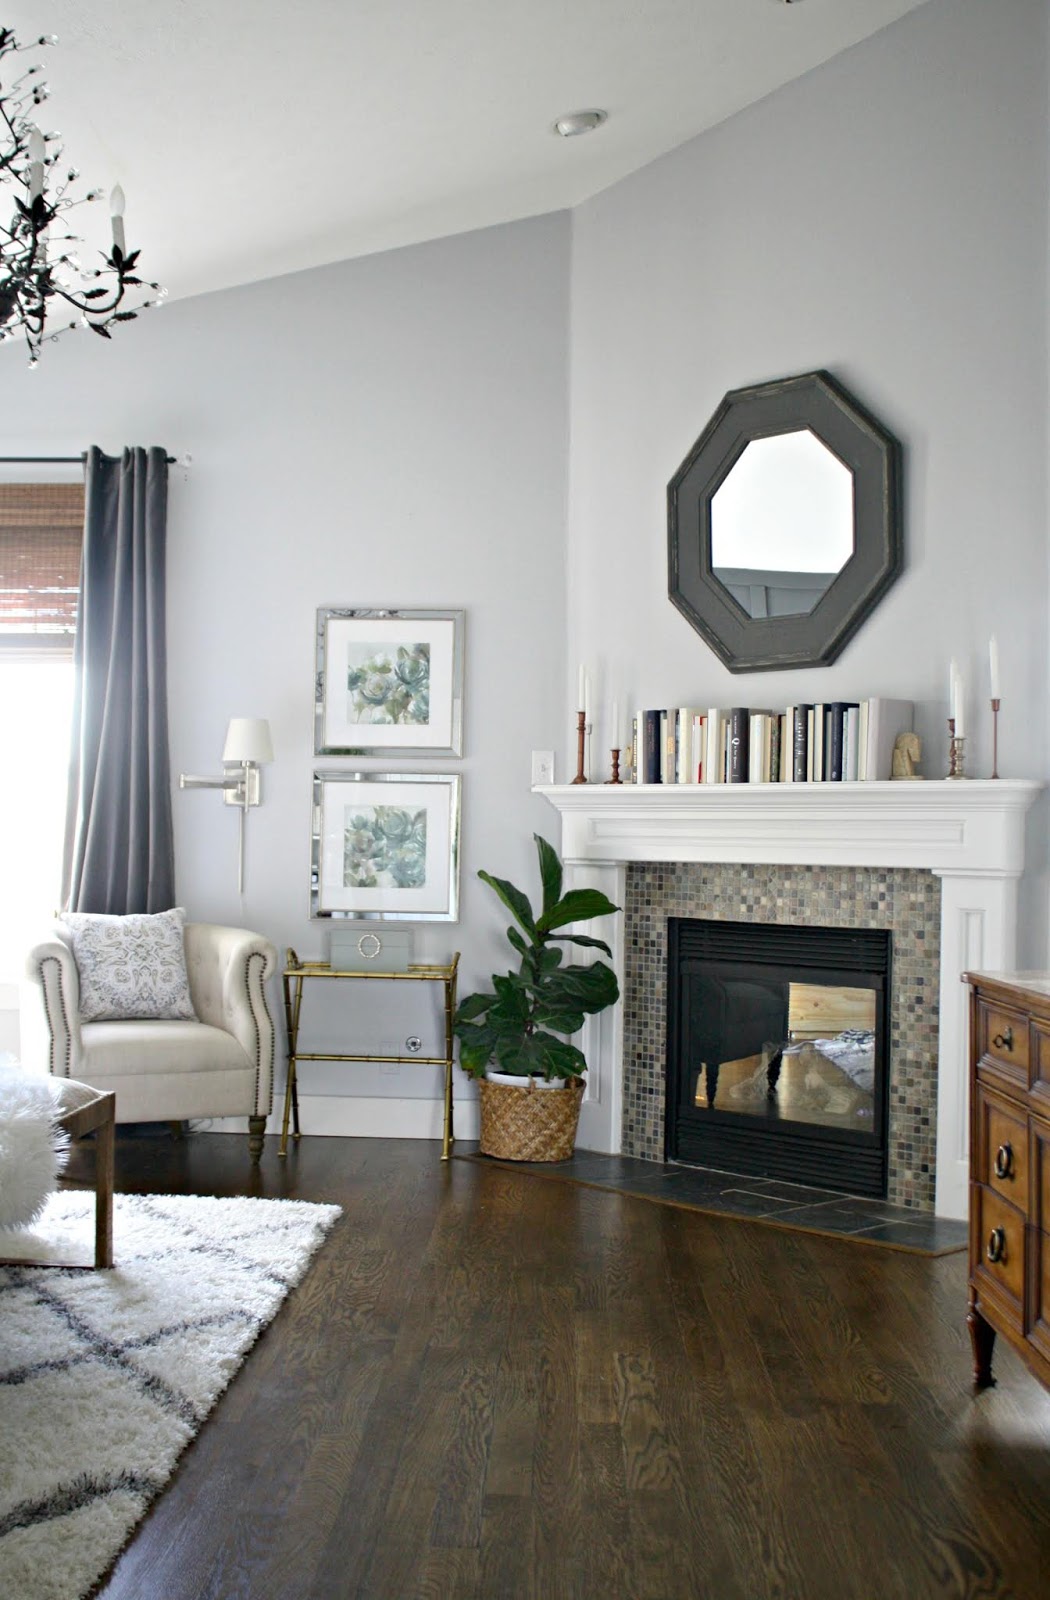
<path id="1" fill-rule="evenodd" d="M 671 918 L 669 1158 L 884 1195 L 888 941 Z"/>

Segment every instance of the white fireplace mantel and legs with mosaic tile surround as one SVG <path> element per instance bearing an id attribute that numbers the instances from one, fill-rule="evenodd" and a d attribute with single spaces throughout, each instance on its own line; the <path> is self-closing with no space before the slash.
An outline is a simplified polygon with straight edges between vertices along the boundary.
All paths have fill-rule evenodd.
<path id="1" fill-rule="evenodd" d="M 587 1019 L 578 1147 L 664 1157 L 667 917 L 893 931 L 888 1200 L 965 1218 L 964 971 L 1016 965 L 1024 779 L 563 784 L 565 886 L 624 907 L 603 936 L 623 1000 Z M 587 931 L 597 931 L 589 928 Z"/>

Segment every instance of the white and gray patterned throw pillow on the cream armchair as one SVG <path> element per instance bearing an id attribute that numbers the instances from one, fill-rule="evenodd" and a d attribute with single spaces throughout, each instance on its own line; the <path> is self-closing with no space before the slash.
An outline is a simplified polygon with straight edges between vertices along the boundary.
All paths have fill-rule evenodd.
<path id="1" fill-rule="evenodd" d="M 194 1021 L 181 906 L 157 915 L 64 912 L 80 974 L 80 1021 Z"/>

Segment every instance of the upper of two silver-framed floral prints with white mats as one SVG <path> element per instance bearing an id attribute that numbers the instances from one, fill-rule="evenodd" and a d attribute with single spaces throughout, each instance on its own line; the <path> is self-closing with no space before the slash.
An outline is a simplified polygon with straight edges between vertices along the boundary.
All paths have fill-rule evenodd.
<path id="1" fill-rule="evenodd" d="M 463 755 L 463 611 L 322 606 L 315 755 Z"/>

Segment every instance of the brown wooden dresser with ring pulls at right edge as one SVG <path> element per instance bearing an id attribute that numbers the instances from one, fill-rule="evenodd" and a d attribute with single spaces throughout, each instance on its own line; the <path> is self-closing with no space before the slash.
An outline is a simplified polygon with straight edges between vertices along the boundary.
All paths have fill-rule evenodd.
<path id="1" fill-rule="evenodd" d="M 970 984 L 970 1339 L 1000 1333 L 1050 1387 L 1050 973 Z"/>

